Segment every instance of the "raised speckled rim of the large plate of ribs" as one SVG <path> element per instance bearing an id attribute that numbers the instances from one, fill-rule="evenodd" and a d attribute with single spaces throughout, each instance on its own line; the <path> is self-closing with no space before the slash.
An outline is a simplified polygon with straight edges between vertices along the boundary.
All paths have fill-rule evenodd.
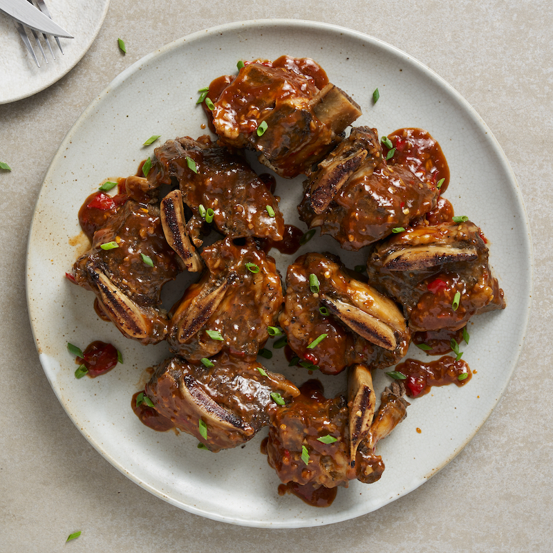
<path id="1" fill-rule="evenodd" d="M 198 507 L 196 505 L 186 505 L 183 504 L 182 501 L 176 500 L 175 498 L 171 497 L 170 494 L 167 494 L 166 492 L 157 489 L 156 487 L 149 484 L 149 482 L 144 482 L 138 476 L 133 474 L 132 470 L 129 470 L 129 467 L 123 466 L 120 461 L 112 456 L 108 451 L 105 451 L 102 447 L 102 444 L 99 442 L 96 442 L 93 440 L 91 435 L 86 431 L 84 427 L 82 427 L 79 424 L 78 420 L 75 420 L 75 417 L 68 406 L 66 402 L 64 402 L 64 397 L 62 393 L 60 392 L 59 388 L 55 384 L 55 377 L 53 374 L 53 364 L 52 359 L 44 353 L 41 353 L 41 349 L 39 347 L 39 340 L 41 336 L 39 335 L 39 329 L 35 325 L 35 308 L 32 303 L 32 297 L 30 296 L 30 274 L 32 274 L 33 271 L 33 264 L 36 263 L 36 259 L 32 259 L 32 256 L 36 253 L 35 252 L 35 243 L 33 242 L 33 238 L 35 237 L 35 232 L 33 232 L 33 229 L 35 228 L 35 225 L 37 224 L 35 221 L 36 218 L 36 212 L 35 216 L 32 220 L 31 225 L 31 231 L 29 234 L 29 241 L 28 241 L 28 259 L 27 259 L 27 293 L 28 293 L 28 309 L 30 314 L 30 320 L 32 325 L 32 332 L 35 337 L 35 344 L 37 344 L 37 348 L 39 348 L 39 357 L 41 359 L 41 364 L 44 367 L 44 371 L 46 373 L 46 376 L 48 377 L 48 380 L 50 384 L 53 387 L 54 392 L 56 393 L 59 401 L 62 403 L 62 406 L 64 406 L 64 409 L 66 409 L 66 412 L 71 417 L 77 428 L 83 433 L 83 435 L 86 437 L 86 439 L 91 442 L 93 447 L 97 449 L 99 453 L 106 458 L 106 460 L 109 460 L 111 464 L 116 467 L 118 470 L 120 470 L 123 474 L 125 474 L 127 477 L 129 477 L 134 482 L 138 483 L 141 487 L 144 489 L 147 489 L 152 494 L 158 496 L 159 498 L 162 498 L 166 500 L 167 502 L 176 505 L 177 507 L 180 507 L 181 509 L 185 509 L 191 513 L 198 514 L 201 516 L 206 516 L 207 518 L 212 518 L 217 521 L 223 521 L 227 523 L 234 523 L 237 525 L 247 525 L 247 526 L 254 526 L 254 527 L 272 527 L 272 528 L 293 528 L 293 527 L 306 527 L 306 526 L 312 526 L 312 525 L 323 525 L 323 524 L 329 524 L 329 523 L 337 523 L 339 521 L 348 520 L 350 518 L 355 518 L 357 516 L 361 516 L 363 514 L 367 514 L 368 512 L 372 512 L 375 509 L 378 509 L 379 507 L 382 507 L 386 505 L 387 503 L 390 503 L 392 500 L 395 500 L 401 496 L 404 496 L 405 494 L 409 493 L 413 489 L 419 487 L 423 482 L 425 482 L 428 478 L 433 476 L 436 472 L 438 472 L 442 467 L 447 465 L 451 459 L 453 459 L 465 445 L 471 440 L 471 438 L 474 437 L 478 429 L 482 426 L 482 424 L 487 420 L 489 414 L 496 406 L 498 400 L 500 399 L 501 395 L 503 395 L 505 388 L 507 388 L 507 384 L 509 383 L 509 379 L 512 377 L 512 374 L 514 373 L 514 369 L 516 367 L 516 362 L 518 361 L 518 357 L 521 353 L 521 348 L 523 346 L 523 339 L 525 335 L 525 330 L 527 328 L 527 322 L 529 319 L 529 310 L 531 305 L 531 297 L 532 297 L 532 267 L 533 267 L 533 261 L 532 261 L 532 245 L 531 245 L 531 237 L 530 237 L 530 230 L 529 230 L 529 223 L 527 219 L 527 214 L 525 212 L 525 207 L 523 205 L 523 199 L 520 190 L 518 189 L 518 185 L 516 183 L 516 178 L 512 172 L 511 167 L 509 166 L 509 162 L 507 161 L 507 158 L 505 157 L 505 154 L 503 153 L 503 150 L 501 149 L 500 145 L 498 144 L 497 140 L 492 135 L 491 131 L 488 129 L 485 122 L 483 122 L 482 118 L 476 113 L 476 111 L 470 106 L 470 104 L 464 100 L 447 82 L 445 82 L 441 77 L 433 73 L 429 68 L 421 64 L 420 62 L 413 59 L 411 56 L 404 53 L 402 50 L 399 50 L 398 48 L 395 48 L 394 46 L 391 46 L 389 44 L 386 44 L 383 41 L 380 41 L 379 39 L 375 39 L 373 37 L 370 37 L 368 35 L 364 35 L 363 33 L 356 32 L 353 30 L 349 30 L 347 28 L 341 28 L 338 26 L 332 26 L 328 24 L 321 24 L 317 22 L 312 21 L 300 21 L 300 20 L 285 20 L 285 19 L 265 19 L 265 20 L 257 20 L 257 21 L 245 21 L 245 22 L 236 22 L 232 24 L 226 24 L 223 26 L 218 26 L 214 28 L 210 28 L 207 30 L 201 30 L 199 32 L 195 32 L 191 35 L 188 35 L 187 37 L 184 37 L 182 39 L 178 39 L 177 41 L 174 41 L 171 44 L 168 44 L 167 46 L 160 48 L 160 50 L 156 50 L 155 52 L 147 55 L 146 57 L 140 59 L 138 62 L 135 62 L 132 66 L 127 68 L 125 71 L 120 73 L 118 77 L 115 77 L 111 84 L 102 92 L 98 97 L 91 102 L 91 104 L 86 108 L 86 110 L 82 113 L 82 115 L 79 117 L 77 122 L 75 122 L 72 129 L 68 132 L 66 135 L 66 138 L 64 138 L 64 141 L 60 145 L 59 151 L 56 153 L 55 157 L 53 158 L 52 163 L 50 164 L 50 167 L 48 169 L 48 172 L 46 174 L 45 183 L 50 178 L 50 175 L 53 174 L 55 171 L 55 167 L 57 163 L 59 162 L 60 158 L 64 156 L 64 151 L 66 151 L 68 144 L 71 144 L 71 141 L 79 133 L 79 128 L 82 125 L 82 123 L 91 116 L 92 113 L 95 112 L 98 105 L 106 98 L 106 95 L 109 95 L 112 91 L 118 88 L 124 81 L 131 77 L 135 72 L 140 71 L 140 68 L 143 66 L 146 66 L 151 60 L 155 59 L 157 56 L 164 55 L 165 53 L 170 52 L 171 50 L 178 50 L 178 48 L 181 48 L 183 44 L 187 43 L 190 44 L 191 42 L 194 42 L 198 39 L 203 39 L 206 36 L 207 37 L 215 37 L 217 35 L 223 35 L 225 33 L 232 33 L 236 32 L 238 30 L 247 28 L 248 30 L 260 30 L 267 28 L 267 26 L 270 27 L 276 27 L 282 30 L 282 32 L 299 32 L 300 30 L 321 30 L 322 31 L 331 31 L 339 33 L 339 35 L 345 35 L 346 37 L 354 40 L 354 41 L 364 41 L 368 44 L 371 44 L 375 48 L 378 48 L 379 50 L 382 50 L 385 53 L 394 55 L 396 57 L 400 57 L 402 59 L 402 62 L 405 64 L 409 64 L 410 66 L 414 67 L 417 71 L 420 71 L 424 75 L 425 78 L 431 80 L 435 84 L 438 84 L 439 88 L 444 91 L 444 93 L 448 94 L 453 100 L 455 100 L 460 107 L 465 111 L 465 115 L 471 120 L 473 124 L 478 126 L 478 129 L 480 129 L 480 133 L 482 136 L 484 136 L 484 140 L 486 140 L 487 147 L 491 148 L 492 151 L 494 151 L 495 156 L 498 158 L 500 165 L 505 172 L 505 175 L 507 176 L 509 180 L 509 187 L 512 188 L 512 191 L 514 192 L 514 209 L 518 212 L 522 219 L 522 226 L 525 229 L 525 232 L 520 237 L 521 238 L 521 247 L 524 252 L 525 256 L 525 265 L 523 269 L 525 270 L 525 288 L 523 290 L 524 294 L 523 296 L 523 302 L 525 309 L 525 315 L 521 315 L 518 319 L 518 344 L 514 346 L 513 353 L 509 357 L 506 363 L 506 368 L 503 373 L 503 377 L 501 380 L 501 386 L 498 388 L 498 393 L 496 394 L 496 397 L 494 397 L 494 400 L 489 402 L 489 409 L 485 413 L 485 416 L 482 417 L 480 420 L 480 424 L 476 428 L 474 428 L 470 435 L 467 435 L 466 439 L 461 443 L 458 444 L 458 447 L 456 447 L 453 451 L 450 451 L 449 456 L 447 458 L 442 459 L 433 469 L 430 471 L 427 471 L 427 474 L 424 474 L 423 476 L 415 476 L 412 478 L 412 480 L 405 484 L 402 489 L 400 489 L 397 494 L 394 494 L 393 496 L 389 497 L 386 500 L 382 500 L 377 502 L 376 504 L 370 505 L 369 507 L 362 506 L 357 507 L 357 509 L 350 509 L 346 510 L 344 512 L 337 512 L 330 514 L 330 511 L 328 512 L 321 512 L 320 509 L 317 509 L 317 512 L 313 514 L 312 518 L 286 518 L 282 521 L 270 521 L 270 520 L 259 520 L 254 518 L 247 518 L 243 517 L 240 514 L 236 513 L 233 516 L 220 514 L 214 510 L 205 509 L 202 507 Z M 344 88 L 347 89 L 347 86 L 344 86 Z M 39 195 L 39 198 L 37 200 L 37 207 L 40 203 L 41 196 Z M 386 474 L 386 473 L 385 473 Z M 328 516 L 326 514 L 328 513 Z"/>

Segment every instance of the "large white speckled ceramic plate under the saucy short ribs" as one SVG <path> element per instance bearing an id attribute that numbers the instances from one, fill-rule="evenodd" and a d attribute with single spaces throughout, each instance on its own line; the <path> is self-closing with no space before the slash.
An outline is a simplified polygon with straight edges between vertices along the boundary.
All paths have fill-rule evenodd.
<path id="1" fill-rule="evenodd" d="M 234 73 L 238 59 L 282 54 L 312 57 L 330 81 L 361 104 L 356 124 L 385 134 L 402 126 L 428 129 L 449 161 L 445 196 L 457 214 L 467 214 L 489 238 L 491 265 L 505 290 L 507 309 L 474 319 L 464 359 L 477 371 L 467 386 L 433 388 L 413 400 L 408 417 L 378 445 L 386 463 L 379 482 L 355 481 L 339 489 L 326 509 L 294 496 L 279 496 L 279 480 L 259 448 L 264 432 L 244 449 L 213 454 L 196 449 L 181 433 L 157 433 L 131 411 L 131 396 L 144 384 L 144 368 L 167 356 L 167 346 L 141 346 L 124 339 L 93 312 L 93 294 L 65 278 L 86 248 L 77 223 L 84 198 L 105 178 L 134 174 L 153 152 L 141 147 L 150 135 L 162 140 L 205 133 L 196 106 L 198 88 L 218 75 Z M 380 99 L 372 95 L 379 88 Z M 301 178 L 279 180 L 288 223 L 297 224 L 295 205 Z M 329 238 L 299 250 L 340 253 Z M 273 250 L 274 251 L 274 250 Z M 366 254 L 344 254 L 349 266 Z M 295 256 L 277 256 L 282 274 Z M 343 521 L 373 511 L 430 478 L 469 442 L 505 390 L 521 350 L 529 315 L 532 259 L 529 227 L 509 164 L 487 126 L 440 77 L 393 46 L 358 32 L 306 21 L 249 21 L 203 30 L 144 57 L 119 75 L 88 106 L 46 175 L 28 245 L 28 306 L 44 371 L 59 401 L 93 446 L 126 476 L 169 503 L 220 521 L 261 527 L 303 527 Z M 181 283 L 182 286 L 182 283 Z M 173 293 L 181 290 L 174 287 Z M 95 339 L 122 350 L 124 364 L 97 379 L 75 379 L 71 341 Z M 413 351 L 415 350 L 415 351 Z M 411 357 L 424 355 L 417 348 Z M 301 384 L 277 355 L 269 368 Z M 381 388 L 388 378 L 379 373 Z M 328 393 L 345 389 L 343 375 L 326 377 Z M 421 429 L 418 433 L 416 429 Z"/>

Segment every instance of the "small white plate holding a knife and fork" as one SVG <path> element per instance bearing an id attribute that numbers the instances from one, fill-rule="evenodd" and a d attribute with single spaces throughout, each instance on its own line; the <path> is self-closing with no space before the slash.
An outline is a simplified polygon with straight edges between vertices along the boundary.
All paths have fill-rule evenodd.
<path id="1" fill-rule="evenodd" d="M 40 67 L 37 67 L 12 19 L 3 12 L 0 13 L 0 104 L 32 96 L 71 71 L 96 38 L 106 17 L 109 0 L 46 0 L 46 4 L 52 19 L 75 38 L 59 39 L 64 50 L 62 55 L 55 40 L 50 37 L 55 60 L 44 40 L 41 40 L 48 59 L 47 64 L 35 39 L 28 33 L 39 60 Z"/>

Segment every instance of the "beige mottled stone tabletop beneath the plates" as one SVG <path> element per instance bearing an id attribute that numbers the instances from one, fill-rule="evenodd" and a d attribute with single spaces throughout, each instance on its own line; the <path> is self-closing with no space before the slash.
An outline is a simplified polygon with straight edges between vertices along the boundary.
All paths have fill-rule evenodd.
<path id="1" fill-rule="evenodd" d="M 271 17 L 366 32 L 446 79 L 502 145 L 534 241 L 534 303 L 523 354 L 474 440 L 408 496 L 316 529 L 209 521 L 127 480 L 88 444 L 57 401 L 39 364 L 26 308 L 33 207 L 50 160 L 79 114 L 151 50 L 227 21 Z M 0 553 L 552 551 L 552 26 L 550 0 L 111 0 L 93 46 L 66 77 L 33 97 L 1 105 L 0 160 L 12 171 L 0 171 Z M 126 42 L 126 55 L 118 50 L 118 37 Z M 82 536 L 64 544 L 76 529 Z"/>

